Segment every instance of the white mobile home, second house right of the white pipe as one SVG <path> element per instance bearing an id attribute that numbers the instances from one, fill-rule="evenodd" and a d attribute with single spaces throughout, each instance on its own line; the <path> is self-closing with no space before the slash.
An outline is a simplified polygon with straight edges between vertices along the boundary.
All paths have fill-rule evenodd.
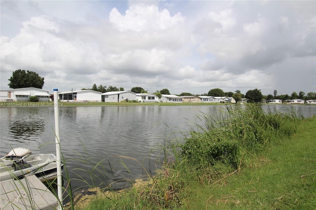
<path id="1" fill-rule="evenodd" d="M 120 102 L 136 100 L 136 93 L 131 91 L 111 91 L 102 93 L 103 102 Z"/>

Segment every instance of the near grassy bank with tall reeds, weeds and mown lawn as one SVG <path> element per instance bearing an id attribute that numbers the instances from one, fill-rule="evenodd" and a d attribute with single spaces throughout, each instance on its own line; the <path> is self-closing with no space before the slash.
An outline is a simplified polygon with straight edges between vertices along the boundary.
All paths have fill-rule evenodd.
<path id="1" fill-rule="evenodd" d="M 286 109 L 204 113 L 184 139 L 166 140 L 154 177 L 122 191 L 91 186 L 65 209 L 315 209 L 316 116 Z"/>

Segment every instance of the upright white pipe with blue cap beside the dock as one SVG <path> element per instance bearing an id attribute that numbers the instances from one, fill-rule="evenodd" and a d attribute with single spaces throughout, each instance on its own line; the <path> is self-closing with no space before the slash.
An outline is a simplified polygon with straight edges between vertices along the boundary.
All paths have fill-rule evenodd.
<path id="1" fill-rule="evenodd" d="M 59 199 L 59 210 L 63 209 L 63 177 L 61 174 L 61 149 L 59 137 L 59 106 L 58 106 L 58 89 L 54 89 L 54 113 L 55 113 L 55 143 L 56 143 L 56 157 L 57 157 L 57 193 Z"/>

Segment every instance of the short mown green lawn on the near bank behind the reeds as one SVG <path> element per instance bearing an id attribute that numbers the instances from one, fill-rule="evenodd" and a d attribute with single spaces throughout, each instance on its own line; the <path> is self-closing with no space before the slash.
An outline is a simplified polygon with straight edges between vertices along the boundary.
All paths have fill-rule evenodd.
<path id="1" fill-rule="evenodd" d="M 222 181 L 193 183 L 187 209 L 316 209 L 316 116 Z"/>

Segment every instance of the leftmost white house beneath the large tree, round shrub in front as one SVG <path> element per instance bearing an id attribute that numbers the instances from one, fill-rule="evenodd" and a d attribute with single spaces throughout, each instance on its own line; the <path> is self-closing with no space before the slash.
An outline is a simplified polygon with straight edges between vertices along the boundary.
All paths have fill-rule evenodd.
<path id="1" fill-rule="evenodd" d="M 31 96 L 38 97 L 40 102 L 48 102 L 50 95 L 48 91 L 35 87 L 0 90 L 1 102 L 28 102 Z"/>

